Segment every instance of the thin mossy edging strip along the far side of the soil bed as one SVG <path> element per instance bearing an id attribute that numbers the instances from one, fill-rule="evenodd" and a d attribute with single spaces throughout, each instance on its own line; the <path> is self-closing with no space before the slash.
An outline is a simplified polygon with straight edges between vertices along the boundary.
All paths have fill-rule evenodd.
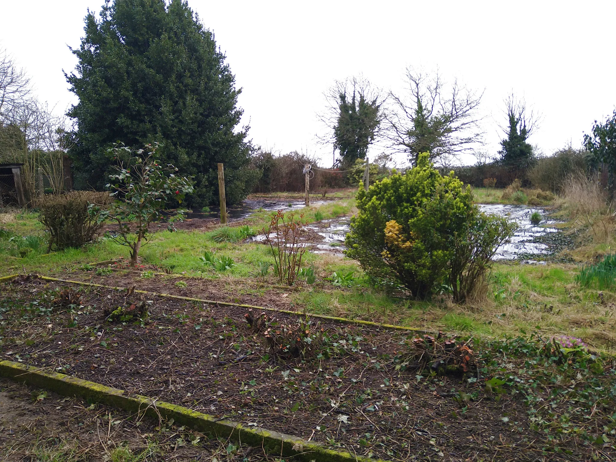
<path id="1" fill-rule="evenodd" d="M 13 277 L 15 277 L 15 276 L 17 276 L 17 275 L 14 275 Z M 126 290 L 125 287 L 105 286 L 105 285 L 102 285 L 102 284 L 95 284 L 93 282 L 71 281 L 70 279 L 59 279 L 59 278 L 52 278 L 52 277 L 49 277 L 49 276 L 40 276 L 40 275 L 39 275 L 39 278 L 44 279 L 46 281 L 68 282 L 68 283 L 71 283 L 71 284 L 78 284 L 78 285 L 84 285 L 84 286 L 94 286 L 94 287 L 100 287 L 100 288 L 112 289 L 112 290 Z M 239 307 L 239 308 L 249 308 L 249 309 L 257 309 L 257 310 L 273 311 L 273 312 L 277 312 L 277 313 L 293 314 L 293 315 L 300 315 L 300 316 L 304 315 L 304 312 L 301 312 L 301 311 L 282 310 L 282 309 L 278 309 L 278 308 L 269 308 L 269 307 L 256 306 L 256 305 L 243 305 L 243 304 L 232 303 L 232 302 L 221 302 L 221 301 L 216 301 L 216 300 L 206 300 L 206 299 L 202 299 L 202 298 L 184 297 L 184 296 L 181 296 L 181 295 L 172 295 L 172 294 L 164 294 L 164 293 L 157 293 L 157 292 L 148 292 L 148 291 L 145 291 L 145 290 L 135 290 L 135 292 L 139 293 L 139 294 L 149 294 L 149 295 L 156 295 L 156 296 L 159 296 L 159 297 L 166 297 L 166 298 L 175 298 L 175 299 L 179 299 L 179 300 L 186 300 L 186 301 L 189 301 L 189 302 L 206 303 L 208 305 L 235 306 L 235 307 Z M 324 314 L 307 313 L 307 315 L 309 317 L 311 317 L 311 318 L 318 318 L 318 319 L 322 319 L 322 320 L 325 320 L 325 321 L 338 322 L 338 323 L 341 323 L 341 324 L 357 324 L 357 325 L 362 325 L 362 326 L 378 327 L 378 328 L 381 328 L 381 329 L 402 330 L 402 331 L 408 331 L 409 333 L 418 333 L 418 334 L 428 333 L 427 331 L 413 329 L 412 327 L 397 326 L 397 325 L 394 325 L 394 324 L 381 324 L 381 323 L 378 323 L 378 322 L 363 321 L 363 320 L 360 320 L 360 319 L 340 318 L 340 317 L 337 317 L 337 316 L 328 316 L 328 315 L 324 315 Z"/>

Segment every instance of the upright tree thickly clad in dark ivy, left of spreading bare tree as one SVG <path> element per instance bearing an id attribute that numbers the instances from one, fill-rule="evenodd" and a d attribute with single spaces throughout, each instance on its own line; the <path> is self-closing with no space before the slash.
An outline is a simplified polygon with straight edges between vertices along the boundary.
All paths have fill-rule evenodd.
<path id="1" fill-rule="evenodd" d="M 362 91 L 338 95 L 339 115 L 334 126 L 334 150 L 339 150 L 341 166 L 349 168 L 357 159 L 365 159 L 381 123 L 381 103 L 377 97 L 367 99 Z"/>

